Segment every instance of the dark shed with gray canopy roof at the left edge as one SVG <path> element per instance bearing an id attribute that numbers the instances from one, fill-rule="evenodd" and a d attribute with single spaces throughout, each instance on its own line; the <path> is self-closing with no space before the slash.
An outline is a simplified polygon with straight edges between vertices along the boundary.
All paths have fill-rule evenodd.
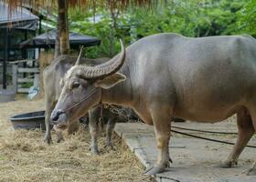
<path id="1" fill-rule="evenodd" d="M 3 88 L 6 89 L 7 62 L 27 58 L 27 51 L 21 50 L 19 44 L 36 35 L 39 18 L 23 7 L 17 7 L 10 14 L 9 6 L 3 2 L 0 2 L 0 15 L 0 62 L 3 66 Z"/>

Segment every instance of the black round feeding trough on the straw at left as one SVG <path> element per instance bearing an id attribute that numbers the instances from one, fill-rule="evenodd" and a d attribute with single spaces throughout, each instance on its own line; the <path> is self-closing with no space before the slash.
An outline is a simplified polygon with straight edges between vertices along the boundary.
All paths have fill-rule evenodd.
<path id="1" fill-rule="evenodd" d="M 11 116 L 10 121 L 15 129 L 46 130 L 45 111 L 37 111 Z"/>

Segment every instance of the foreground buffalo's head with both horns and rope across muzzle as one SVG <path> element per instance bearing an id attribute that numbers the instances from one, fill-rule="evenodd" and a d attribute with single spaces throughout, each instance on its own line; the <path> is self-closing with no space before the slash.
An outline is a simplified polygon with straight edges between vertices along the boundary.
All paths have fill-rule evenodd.
<path id="1" fill-rule="evenodd" d="M 69 122 L 84 116 L 88 110 L 101 102 L 102 89 L 123 82 L 126 77 L 118 73 L 125 60 L 125 48 L 110 61 L 98 66 L 80 66 L 80 56 L 62 81 L 59 101 L 51 113 L 54 125 L 67 126 Z"/>

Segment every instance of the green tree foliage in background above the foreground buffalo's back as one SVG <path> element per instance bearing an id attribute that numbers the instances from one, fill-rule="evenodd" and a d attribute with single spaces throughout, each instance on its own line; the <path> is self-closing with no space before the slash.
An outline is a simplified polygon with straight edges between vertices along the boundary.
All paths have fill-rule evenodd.
<path id="1" fill-rule="evenodd" d="M 88 57 L 113 56 L 119 52 L 120 37 L 126 45 L 146 35 L 178 33 L 187 36 L 256 35 L 256 0 L 167 0 L 151 9 L 129 8 L 113 19 L 110 10 L 69 12 L 70 29 L 101 39 L 101 45 L 87 49 Z M 114 25 L 116 21 L 116 26 Z M 114 52 L 112 52 L 112 49 Z"/>

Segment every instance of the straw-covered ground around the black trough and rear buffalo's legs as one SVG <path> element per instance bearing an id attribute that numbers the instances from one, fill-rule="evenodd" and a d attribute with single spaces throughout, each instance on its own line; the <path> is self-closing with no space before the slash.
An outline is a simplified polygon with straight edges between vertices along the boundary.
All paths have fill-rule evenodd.
<path id="1" fill-rule="evenodd" d="M 9 116 L 41 109 L 43 99 L 28 101 L 19 97 L 15 102 L 0 104 L 0 181 L 153 181 L 142 175 L 143 166 L 118 136 L 113 151 L 102 149 L 102 134 L 101 155 L 93 156 L 87 128 L 65 136 L 60 144 L 48 146 L 42 131 L 15 131 L 8 121 Z"/>

